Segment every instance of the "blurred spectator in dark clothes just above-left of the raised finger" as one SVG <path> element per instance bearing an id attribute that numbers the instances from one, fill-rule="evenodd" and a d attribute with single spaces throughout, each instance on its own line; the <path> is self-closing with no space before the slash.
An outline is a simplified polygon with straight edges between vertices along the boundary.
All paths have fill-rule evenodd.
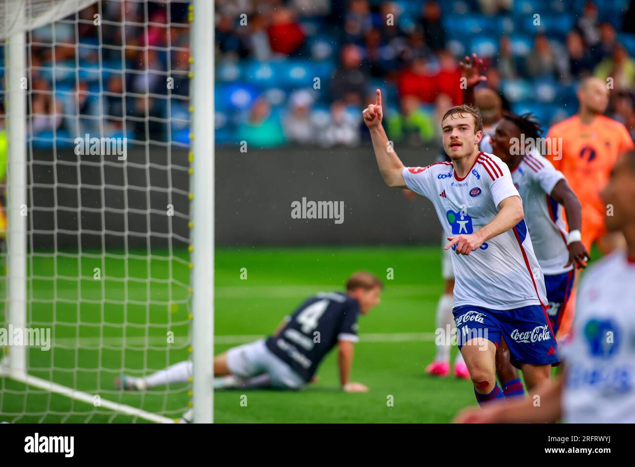
<path id="1" fill-rule="evenodd" d="M 347 44 L 340 54 L 341 65 L 331 78 L 331 96 L 346 104 L 361 105 L 366 98 L 368 78 L 361 71 L 361 50 L 354 44 Z"/>

